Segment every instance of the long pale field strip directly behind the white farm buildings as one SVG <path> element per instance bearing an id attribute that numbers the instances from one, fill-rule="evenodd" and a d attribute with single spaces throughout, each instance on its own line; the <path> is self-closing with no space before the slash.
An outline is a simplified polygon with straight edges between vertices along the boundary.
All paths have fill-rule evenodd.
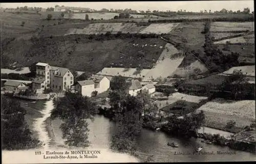
<path id="1" fill-rule="evenodd" d="M 108 75 L 108 76 L 124 76 L 124 77 L 131 77 L 131 78 L 138 78 L 145 76 L 149 69 L 142 69 L 139 74 L 135 74 L 136 69 L 130 68 L 103 68 L 101 71 L 99 71 L 98 75 Z"/>

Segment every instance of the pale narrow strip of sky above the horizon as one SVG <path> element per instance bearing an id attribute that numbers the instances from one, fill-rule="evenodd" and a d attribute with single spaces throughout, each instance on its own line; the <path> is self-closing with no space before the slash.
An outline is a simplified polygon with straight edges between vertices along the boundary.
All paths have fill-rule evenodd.
<path id="1" fill-rule="evenodd" d="M 225 8 L 227 10 L 237 11 L 243 10 L 248 7 L 250 11 L 254 11 L 253 1 L 158 1 L 158 2 L 54 2 L 54 3 L 1 3 L 0 7 L 3 8 L 16 8 L 16 7 L 54 7 L 59 6 L 69 6 L 69 7 L 84 7 L 91 8 L 95 10 L 100 10 L 102 8 L 106 9 L 132 9 L 132 10 L 159 10 L 159 11 L 178 11 L 180 9 L 186 11 L 200 12 L 200 10 L 211 10 L 220 11 Z"/>

